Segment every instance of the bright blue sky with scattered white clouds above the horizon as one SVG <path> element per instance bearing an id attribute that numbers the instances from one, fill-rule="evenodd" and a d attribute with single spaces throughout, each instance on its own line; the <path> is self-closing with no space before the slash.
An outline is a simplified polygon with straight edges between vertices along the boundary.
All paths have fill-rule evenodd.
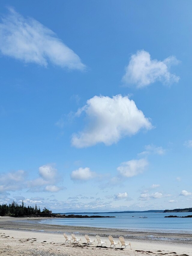
<path id="1" fill-rule="evenodd" d="M 191 1 L 1 1 L 0 203 L 191 207 Z"/>

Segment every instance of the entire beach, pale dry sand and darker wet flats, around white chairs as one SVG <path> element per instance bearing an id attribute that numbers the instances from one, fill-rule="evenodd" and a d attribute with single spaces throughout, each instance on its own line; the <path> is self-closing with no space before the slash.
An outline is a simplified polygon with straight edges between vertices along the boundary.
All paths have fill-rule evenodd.
<path id="1" fill-rule="evenodd" d="M 75 227 L 40 224 L 43 218 L 0 217 L 0 255 L 26 256 L 97 256 L 97 255 L 189 255 L 192 256 L 192 237 L 187 233 L 136 232 L 121 229 Z M 63 232 L 75 233 L 82 243 L 65 243 Z M 107 248 L 86 245 L 84 234 L 95 239 L 98 234 L 107 239 Z M 118 240 L 120 235 L 131 241 L 132 249 L 109 248 L 108 236 Z M 97 243 L 96 243 L 97 244 Z"/>

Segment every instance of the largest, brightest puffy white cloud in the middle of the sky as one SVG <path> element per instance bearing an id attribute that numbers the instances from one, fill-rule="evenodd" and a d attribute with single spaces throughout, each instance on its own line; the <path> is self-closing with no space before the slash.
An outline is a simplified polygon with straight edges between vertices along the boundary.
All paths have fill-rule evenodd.
<path id="1" fill-rule="evenodd" d="M 136 134 L 140 129 L 149 130 L 152 124 L 128 96 L 94 96 L 79 108 L 76 116 L 85 112 L 88 126 L 79 134 L 73 134 L 72 145 L 77 148 L 97 143 L 111 145 L 124 136 Z"/>

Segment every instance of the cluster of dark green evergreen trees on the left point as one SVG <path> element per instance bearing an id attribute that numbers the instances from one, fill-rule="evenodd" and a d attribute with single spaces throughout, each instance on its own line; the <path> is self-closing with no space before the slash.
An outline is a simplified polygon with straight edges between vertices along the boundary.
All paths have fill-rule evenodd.
<path id="1" fill-rule="evenodd" d="M 43 211 L 41 212 L 40 207 L 37 207 L 35 204 L 34 206 L 25 206 L 22 200 L 22 204 L 18 204 L 15 201 L 7 204 L 0 204 L 0 216 L 14 216 L 14 217 L 22 217 L 22 216 L 31 216 L 31 215 L 38 215 L 40 213 L 46 213 L 49 211 L 44 207 Z"/>

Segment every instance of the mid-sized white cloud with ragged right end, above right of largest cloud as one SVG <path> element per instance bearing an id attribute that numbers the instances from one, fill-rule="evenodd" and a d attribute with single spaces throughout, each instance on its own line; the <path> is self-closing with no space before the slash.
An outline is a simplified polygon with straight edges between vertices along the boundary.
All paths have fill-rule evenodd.
<path id="1" fill-rule="evenodd" d="M 156 81 L 166 84 L 178 82 L 179 77 L 169 71 L 169 67 L 176 64 L 178 60 L 174 56 L 158 61 L 151 59 L 148 52 L 140 50 L 131 56 L 122 81 L 125 84 L 135 84 L 137 88 L 148 86 Z"/>

